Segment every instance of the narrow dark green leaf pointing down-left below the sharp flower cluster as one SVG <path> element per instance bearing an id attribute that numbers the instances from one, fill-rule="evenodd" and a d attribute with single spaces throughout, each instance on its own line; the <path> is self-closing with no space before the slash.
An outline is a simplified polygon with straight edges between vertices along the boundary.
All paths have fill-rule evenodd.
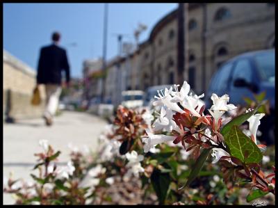
<path id="1" fill-rule="evenodd" d="M 202 153 L 199 155 L 198 159 L 196 160 L 195 166 L 193 167 L 193 169 L 191 170 L 189 176 L 188 176 L 188 180 L 186 182 L 186 185 L 184 186 L 189 186 L 189 184 L 191 182 L 193 182 L 193 180 L 198 176 L 199 171 L 202 169 L 202 167 L 204 166 L 204 162 L 206 161 L 206 159 L 208 158 L 208 154 L 211 152 L 211 148 L 208 149 L 204 149 L 202 151 Z M 183 186 L 183 187 L 184 187 Z M 181 187 L 180 189 L 183 189 L 183 187 Z"/>

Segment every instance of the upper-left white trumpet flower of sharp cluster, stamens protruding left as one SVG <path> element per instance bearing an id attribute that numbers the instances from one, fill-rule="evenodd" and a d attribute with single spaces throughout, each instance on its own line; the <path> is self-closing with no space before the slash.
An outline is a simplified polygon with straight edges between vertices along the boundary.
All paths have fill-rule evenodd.
<path id="1" fill-rule="evenodd" d="M 172 93 L 172 87 L 170 88 L 170 90 L 168 90 L 167 88 L 165 88 L 164 90 L 164 94 L 163 94 L 163 90 L 161 90 L 161 93 L 158 92 L 158 96 L 156 95 L 154 96 L 157 100 L 153 102 L 154 106 L 167 106 L 167 108 L 172 109 L 173 111 L 177 111 L 179 113 L 183 113 L 184 111 L 174 102 L 171 102 L 170 100 L 172 99 L 172 96 L 170 95 Z"/>

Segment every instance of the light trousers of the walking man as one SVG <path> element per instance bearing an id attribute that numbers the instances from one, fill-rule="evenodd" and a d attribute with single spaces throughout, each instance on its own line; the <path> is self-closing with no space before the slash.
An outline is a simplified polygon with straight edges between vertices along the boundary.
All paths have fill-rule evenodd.
<path id="1" fill-rule="evenodd" d="M 60 93 L 62 92 L 62 88 L 60 87 L 60 85 L 57 84 L 46 84 L 45 91 L 47 99 L 44 116 L 47 118 L 53 118 L 58 109 L 59 97 Z"/>

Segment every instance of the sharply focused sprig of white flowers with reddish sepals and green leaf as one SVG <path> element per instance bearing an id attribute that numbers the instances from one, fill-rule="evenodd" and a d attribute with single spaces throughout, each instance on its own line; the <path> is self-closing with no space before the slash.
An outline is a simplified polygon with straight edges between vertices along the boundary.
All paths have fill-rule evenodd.
<path id="1" fill-rule="evenodd" d="M 181 143 L 184 150 L 190 152 L 190 156 L 197 161 L 199 157 L 204 158 L 206 152 L 211 152 L 212 163 L 222 161 L 222 171 L 226 182 L 231 179 L 232 173 L 239 177 L 245 175 L 245 179 L 253 178 L 254 186 L 257 188 L 273 192 L 272 186 L 269 189 L 262 186 L 258 177 L 261 173 L 258 163 L 263 157 L 260 151 L 265 151 L 266 146 L 257 142 L 256 134 L 260 119 L 265 114 L 254 114 L 255 111 L 250 109 L 245 115 L 241 115 L 241 118 L 224 122 L 225 125 L 223 125 L 223 115 L 237 108 L 234 104 L 228 104 L 229 95 L 218 97 L 213 93 L 211 95 L 213 104 L 208 109 L 209 115 L 204 114 L 205 105 L 202 97 L 204 94 L 198 96 L 190 93 L 190 86 L 186 81 L 183 82 L 180 90 L 177 85 L 174 85 L 174 90 L 172 87 L 158 90 L 158 96 L 155 96 L 156 101 L 153 105 L 161 106 L 161 111 L 155 112 L 156 119 L 145 129 L 146 135 L 142 136 L 142 142 L 145 143 L 144 152 L 149 152 L 158 144 L 169 142 L 176 145 Z M 240 125 L 245 120 L 249 122 L 249 130 L 244 131 L 247 137 L 241 138 L 244 136 L 236 125 Z M 238 136 L 239 134 L 241 137 Z M 240 139 L 243 141 L 240 142 Z M 248 147 L 241 148 L 244 145 Z M 205 149 L 208 151 L 201 156 L 201 150 Z M 247 159 L 248 157 L 250 159 Z M 268 177 L 273 181 L 273 175 Z M 267 181 L 264 182 L 264 184 L 267 183 Z"/>

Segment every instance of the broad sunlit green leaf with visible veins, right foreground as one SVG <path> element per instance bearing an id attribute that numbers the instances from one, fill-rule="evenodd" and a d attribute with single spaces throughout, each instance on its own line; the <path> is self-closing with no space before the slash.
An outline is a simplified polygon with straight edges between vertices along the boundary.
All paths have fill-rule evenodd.
<path id="1" fill-rule="evenodd" d="M 263 154 L 257 145 L 234 125 L 229 134 L 224 137 L 231 156 L 240 159 L 243 163 L 259 163 Z"/>

